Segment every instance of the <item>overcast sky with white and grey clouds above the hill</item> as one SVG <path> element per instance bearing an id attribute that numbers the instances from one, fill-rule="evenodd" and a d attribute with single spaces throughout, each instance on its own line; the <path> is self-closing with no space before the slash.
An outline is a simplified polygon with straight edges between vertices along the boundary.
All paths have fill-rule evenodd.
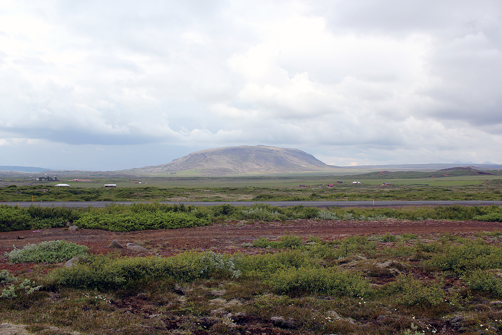
<path id="1" fill-rule="evenodd" d="M 0 0 L 0 165 L 502 163 L 502 2 Z"/>

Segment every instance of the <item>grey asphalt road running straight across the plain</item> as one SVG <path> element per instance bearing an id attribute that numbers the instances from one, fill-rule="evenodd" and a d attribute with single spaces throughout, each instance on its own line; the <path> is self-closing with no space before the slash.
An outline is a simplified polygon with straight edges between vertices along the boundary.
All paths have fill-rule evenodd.
<path id="1" fill-rule="evenodd" d="M 64 207 L 105 207 L 110 203 L 130 205 L 132 203 L 148 203 L 148 201 L 20 201 L 20 202 L 0 202 L 10 206 L 29 207 L 31 205 L 41 207 L 64 206 Z M 502 206 L 502 201 L 484 201 L 484 200 L 466 200 L 466 201 L 159 201 L 166 204 L 196 205 L 196 206 L 216 206 L 222 204 L 230 204 L 233 206 L 251 206 L 255 203 L 270 204 L 279 207 L 289 207 L 296 205 L 315 206 L 315 207 L 383 207 L 383 206 L 437 206 L 437 205 L 454 205 L 460 204 L 465 206 L 471 205 L 499 205 Z"/>

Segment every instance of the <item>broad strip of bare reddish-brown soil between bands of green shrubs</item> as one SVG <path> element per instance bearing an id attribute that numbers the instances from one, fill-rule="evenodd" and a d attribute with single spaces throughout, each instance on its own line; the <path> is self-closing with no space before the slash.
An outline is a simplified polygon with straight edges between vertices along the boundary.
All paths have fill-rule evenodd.
<path id="1" fill-rule="evenodd" d="M 150 230 L 141 232 L 113 233 L 102 230 L 80 229 L 70 232 L 61 228 L 42 231 L 18 231 L 0 233 L 0 270 L 12 273 L 28 271 L 33 264 L 10 264 L 5 252 L 18 249 L 28 243 L 38 244 L 43 241 L 65 240 L 89 247 L 94 254 L 120 252 L 122 255 L 141 255 L 128 249 L 109 247 L 111 241 L 118 240 L 122 245 L 134 242 L 163 256 L 173 255 L 187 250 L 214 250 L 233 253 L 241 251 L 252 253 L 250 248 L 241 248 L 242 243 L 252 243 L 258 238 L 276 239 L 283 235 L 319 237 L 333 240 L 357 234 L 438 234 L 452 233 L 465 235 L 481 231 L 502 230 L 502 224 L 481 221 L 405 221 L 387 219 L 381 221 L 330 221 L 330 220 L 292 220 L 285 222 L 227 222 L 207 227 L 178 230 Z"/>

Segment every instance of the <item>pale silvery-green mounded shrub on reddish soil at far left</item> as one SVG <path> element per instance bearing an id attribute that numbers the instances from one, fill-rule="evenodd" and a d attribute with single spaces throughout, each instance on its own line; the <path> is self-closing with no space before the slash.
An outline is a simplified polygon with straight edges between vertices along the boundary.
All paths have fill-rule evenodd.
<path id="1" fill-rule="evenodd" d="M 27 244 L 23 249 L 6 252 L 5 256 L 13 263 L 58 263 L 73 257 L 85 256 L 89 248 L 62 240 L 42 242 L 38 245 Z"/>

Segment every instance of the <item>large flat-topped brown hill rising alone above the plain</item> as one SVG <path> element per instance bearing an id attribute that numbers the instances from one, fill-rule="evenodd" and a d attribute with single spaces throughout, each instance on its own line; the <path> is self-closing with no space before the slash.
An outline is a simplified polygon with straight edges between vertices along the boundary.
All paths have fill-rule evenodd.
<path id="1" fill-rule="evenodd" d="M 334 171 L 314 156 L 299 149 L 239 146 L 201 150 L 171 163 L 131 169 L 135 172 L 192 171 L 205 176 Z"/>

